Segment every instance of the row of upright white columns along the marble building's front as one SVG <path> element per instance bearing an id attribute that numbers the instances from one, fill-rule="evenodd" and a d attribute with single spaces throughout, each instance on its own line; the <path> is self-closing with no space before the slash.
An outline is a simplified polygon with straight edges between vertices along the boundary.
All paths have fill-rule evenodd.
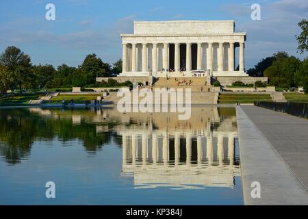
<path id="1" fill-rule="evenodd" d="M 228 42 L 228 66 L 229 71 L 234 70 L 234 42 Z M 218 43 L 218 71 L 223 71 L 224 66 L 224 43 Z M 166 70 L 168 66 L 168 48 L 169 44 L 164 43 L 163 50 L 163 68 Z M 202 43 L 197 43 L 197 70 L 202 69 Z M 123 72 L 131 71 L 136 72 L 136 43 L 131 44 L 131 52 L 127 52 L 129 47 L 123 44 Z M 131 55 L 130 55 L 131 54 Z M 239 55 L 240 71 L 244 71 L 244 42 L 240 42 L 240 55 Z M 152 53 L 152 66 L 153 72 L 157 72 L 157 44 L 153 43 Z M 131 63 L 131 69 L 128 63 Z M 186 71 L 192 70 L 192 43 L 186 43 Z M 207 68 L 213 69 L 213 43 L 208 43 L 207 49 Z M 175 71 L 180 70 L 180 43 L 175 43 Z M 146 44 L 142 44 L 142 72 L 146 72 Z"/>

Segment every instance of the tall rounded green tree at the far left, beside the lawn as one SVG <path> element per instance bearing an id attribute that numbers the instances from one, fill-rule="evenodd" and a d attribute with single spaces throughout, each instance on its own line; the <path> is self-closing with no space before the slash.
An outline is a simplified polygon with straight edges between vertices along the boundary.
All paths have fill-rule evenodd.
<path id="1" fill-rule="evenodd" d="M 16 85 L 22 92 L 23 86 L 29 86 L 31 79 L 31 59 L 17 47 L 8 47 L 0 56 L 0 65 L 12 73 Z M 12 86 L 12 85 L 11 85 Z"/>

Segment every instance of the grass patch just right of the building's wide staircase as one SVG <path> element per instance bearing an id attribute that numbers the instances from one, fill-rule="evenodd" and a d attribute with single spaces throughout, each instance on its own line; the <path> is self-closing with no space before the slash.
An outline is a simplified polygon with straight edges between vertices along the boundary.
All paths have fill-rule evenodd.
<path id="1" fill-rule="evenodd" d="M 218 103 L 253 103 L 254 101 L 272 101 L 270 94 L 220 94 Z"/>

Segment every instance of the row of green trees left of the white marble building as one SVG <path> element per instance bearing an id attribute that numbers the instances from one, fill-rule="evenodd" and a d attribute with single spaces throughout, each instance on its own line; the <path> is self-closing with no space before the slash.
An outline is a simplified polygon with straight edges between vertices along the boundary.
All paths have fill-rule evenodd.
<path id="1" fill-rule="evenodd" d="M 0 56 L 0 92 L 18 89 L 71 88 L 90 86 L 96 77 L 111 77 L 122 71 L 122 60 L 113 65 L 103 62 L 95 53 L 86 55 L 77 68 L 62 64 L 31 64 L 31 58 L 17 47 L 8 47 Z"/>

